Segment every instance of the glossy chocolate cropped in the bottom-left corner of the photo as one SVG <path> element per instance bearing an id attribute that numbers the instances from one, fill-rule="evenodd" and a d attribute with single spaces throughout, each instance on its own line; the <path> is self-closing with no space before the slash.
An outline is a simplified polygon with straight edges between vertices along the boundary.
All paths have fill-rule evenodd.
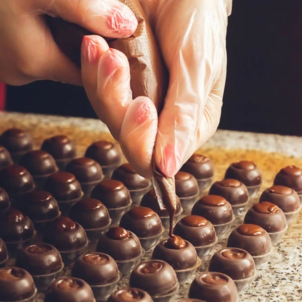
<path id="1" fill-rule="evenodd" d="M 23 301 L 35 293 L 34 280 L 26 270 L 19 267 L 0 268 L 1 301 Z"/>

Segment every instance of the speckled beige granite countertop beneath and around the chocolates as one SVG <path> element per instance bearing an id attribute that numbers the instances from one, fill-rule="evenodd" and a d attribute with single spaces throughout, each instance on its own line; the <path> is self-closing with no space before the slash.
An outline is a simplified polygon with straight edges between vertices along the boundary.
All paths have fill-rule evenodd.
<path id="1" fill-rule="evenodd" d="M 36 147 L 51 135 L 63 133 L 74 138 L 79 155 L 92 142 L 101 138 L 112 139 L 104 124 L 94 119 L 66 118 L 58 116 L 0 113 L 0 132 L 8 127 L 27 128 L 33 135 Z M 223 176 L 230 163 L 239 159 L 250 159 L 262 169 L 264 183 L 261 191 L 272 184 L 274 175 L 286 165 L 302 167 L 302 138 L 271 134 L 257 134 L 218 130 L 201 150 L 210 156 L 215 164 L 215 179 Z M 257 196 L 259 197 L 259 196 Z M 251 200 L 256 202 L 257 198 Z M 240 224 L 237 218 L 234 227 Z M 219 238 L 215 249 L 225 244 L 227 236 Z M 148 258 L 146 255 L 145 258 Z M 258 270 L 252 285 L 240 295 L 240 301 L 302 301 L 302 216 L 293 222 L 282 241 L 274 248 L 268 262 Z M 209 257 L 202 259 L 198 271 L 207 268 Z M 176 300 L 186 296 L 192 278 L 182 285 Z M 127 279 L 120 282 L 120 286 Z M 41 302 L 41 295 L 35 302 Z"/>

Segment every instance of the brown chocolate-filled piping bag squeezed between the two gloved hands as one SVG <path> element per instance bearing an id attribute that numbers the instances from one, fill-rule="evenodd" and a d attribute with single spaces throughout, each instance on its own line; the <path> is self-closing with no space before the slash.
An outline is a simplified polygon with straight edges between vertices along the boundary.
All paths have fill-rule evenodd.
<path id="1" fill-rule="evenodd" d="M 139 0 L 119 0 L 127 5 L 138 20 L 136 31 L 125 39 L 105 38 L 109 47 L 122 51 L 130 64 L 130 86 L 133 99 L 138 96 L 150 98 L 161 112 L 168 88 L 168 71 L 158 44 L 146 19 Z M 92 32 L 60 18 L 46 16 L 53 38 L 61 51 L 77 66 L 81 67 L 81 44 L 85 35 Z M 176 212 L 175 180 L 161 173 L 155 164 L 153 152 L 153 183 L 161 209 L 170 215 L 170 233 Z"/>

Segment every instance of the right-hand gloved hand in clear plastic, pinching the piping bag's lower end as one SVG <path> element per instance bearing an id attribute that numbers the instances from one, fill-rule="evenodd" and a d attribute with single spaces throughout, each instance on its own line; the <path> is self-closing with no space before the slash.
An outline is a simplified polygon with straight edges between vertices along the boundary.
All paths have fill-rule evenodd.
<path id="1" fill-rule="evenodd" d="M 152 176 L 151 157 L 174 176 L 219 123 L 226 73 L 224 0 L 141 0 L 170 73 L 159 118 L 145 97 L 132 101 L 126 57 L 100 37 L 82 45 L 82 77 L 96 113 L 136 171 Z M 93 55 L 92 55 L 93 54 Z"/>

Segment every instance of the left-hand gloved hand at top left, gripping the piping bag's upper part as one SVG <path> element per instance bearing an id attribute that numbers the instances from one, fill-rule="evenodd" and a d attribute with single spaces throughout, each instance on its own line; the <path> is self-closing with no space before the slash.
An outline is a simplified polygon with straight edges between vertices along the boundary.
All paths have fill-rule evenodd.
<path id="1" fill-rule="evenodd" d="M 81 70 L 59 50 L 45 14 L 112 38 L 128 37 L 137 27 L 132 11 L 118 0 L 0 1 L 0 82 L 48 79 L 82 85 Z"/>

